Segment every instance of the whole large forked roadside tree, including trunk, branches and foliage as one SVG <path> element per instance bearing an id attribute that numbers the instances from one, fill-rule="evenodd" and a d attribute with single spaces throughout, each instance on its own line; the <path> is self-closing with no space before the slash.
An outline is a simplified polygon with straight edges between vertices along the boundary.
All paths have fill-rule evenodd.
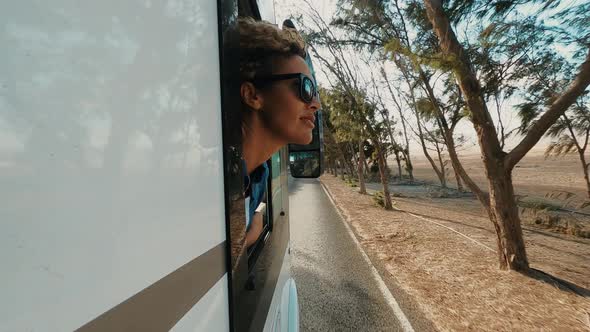
<path id="1" fill-rule="evenodd" d="M 551 15 L 551 10 L 558 10 L 559 0 L 450 0 L 445 2 L 444 8 L 440 0 L 404 3 L 405 7 L 398 0 L 341 0 L 340 17 L 333 23 L 350 31 L 343 42 L 372 50 L 382 47 L 391 54 L 390 59 L 408 85 L 412 104 L 420 98 L 414 89 L 424 90 L 444 135 L 455 172 L 486 208 L 495 227 L 500 267 L 528 270 L 514 200 L 512 169 L 588 86 L 590 4 L 568 6 Z M 518 11 L 521 7 L 526 12 Z M 560 24 L 545 23 L 543 17 L 548 16 Z M 470 18 L 476 19 L 481 31 L 466 33 L 467 46 L 464 47 L 455 35 L 453 24 L 465 23 Z M 411 41 L 407 21 L 416 29 Z M 542 95 L 542 103 L 529 106 L 536 110 L 531 112 L 531 126 L 520 143 L 512 151 L 505 152 L 505 140 L 514 129 L 505 128 L 501 116 L 496 126 L 487 103 L 494 102 L 499 111 L 502 100 L 509 98 L 518 86 L 538 82 L 535 72 L 529 69 L 537 63 L 551 65 L 551 59 L 555 59 L 551 50 L 558 42 L 562 46 L 575 46 L 570 62 L 585 60 L 571 75 L 560 72 L 560 79 L 565 82 L 562 86 L 566 88 Z M 477 133 L 488 192 L 475 184 L 458 158 L 452 118 L 446 107 L 450 105 L 449 100 L 441 102 L 429 70 L 452 74 L 459 87 L 457 100 L 468 111 Z M 571 83 L 568 85 L 568 82 Z"/>

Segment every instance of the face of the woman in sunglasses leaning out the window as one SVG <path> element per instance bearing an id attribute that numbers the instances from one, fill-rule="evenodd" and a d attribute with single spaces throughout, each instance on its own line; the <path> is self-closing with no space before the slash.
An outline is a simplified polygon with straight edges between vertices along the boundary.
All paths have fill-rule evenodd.
<path id="1" fill-rule="evenodd" d="M 303 73 L 312 78 L 311 72 L 300 56 L 277 61 L 273 75 Z M 261 92 L 262 117 L 265 127 L 273 137 L 284 144 L 309 144 L 313 138 L 315 112 L 320 108 L 317 97 L 305 103 L 299 97 L 299 79 L 273 82 Z"/>

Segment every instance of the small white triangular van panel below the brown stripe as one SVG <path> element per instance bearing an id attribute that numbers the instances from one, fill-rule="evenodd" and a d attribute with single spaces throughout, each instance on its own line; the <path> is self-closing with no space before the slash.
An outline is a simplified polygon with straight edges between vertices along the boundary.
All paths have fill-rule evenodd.
<path id="1" fill-rule="evenodd" d="M 228 299 L 226 274 L 171 331 L 229 331 Z"/>

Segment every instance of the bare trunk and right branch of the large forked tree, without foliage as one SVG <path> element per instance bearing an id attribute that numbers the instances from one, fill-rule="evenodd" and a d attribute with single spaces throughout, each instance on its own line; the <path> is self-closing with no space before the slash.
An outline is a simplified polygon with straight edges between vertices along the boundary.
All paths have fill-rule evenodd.
<path id="1" fill-rule="evenodd" d="M 530 126 L 516 147 L 510 152 L 504 152 L 483 97 L 482 84 L 474 72 L 470 55 L 455 35 L 447 10 L 443 8 L 441 0 L 424 0 L 424 6 L 440 49 L 452 62 L 454 75 L 477 133 L 489 189 L 489 194 L 481 195 L 480 192 L 477 195 L 487 208 L 490 220 L 496 228 L 500 267 L 528 271 L 529 264 L 514 198 L 512 170 L 590 84 L 590 52 L 568 88 L 554 96 L 553 101 Z M 590 51 L 587 45 L 586 49 Z"/>

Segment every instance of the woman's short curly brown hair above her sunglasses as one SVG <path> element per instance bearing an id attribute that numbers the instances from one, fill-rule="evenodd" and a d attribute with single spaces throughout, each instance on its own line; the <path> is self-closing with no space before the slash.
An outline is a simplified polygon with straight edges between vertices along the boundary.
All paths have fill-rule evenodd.
<path id="1" fill-rule="evenodd" d="M 305 42 L 295 29 L 239 18 L 233 32 L 231 46 L 238 48 L 240 82 L 270 74 L 273 60 L 293 55 L 305 58 Z"/>

